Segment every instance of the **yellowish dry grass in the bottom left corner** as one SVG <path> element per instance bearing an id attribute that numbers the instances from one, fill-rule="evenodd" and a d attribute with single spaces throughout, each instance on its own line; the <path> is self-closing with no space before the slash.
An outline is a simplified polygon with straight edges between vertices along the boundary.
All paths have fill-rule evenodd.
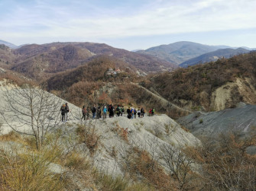
<path id="1" fill-rule="evenodd" d="M 65 186 L 60 174 L 50 172 L 51 158 L 41 153 L 12 153 L 0 151 L 1 190 L 62 190 Z"/>

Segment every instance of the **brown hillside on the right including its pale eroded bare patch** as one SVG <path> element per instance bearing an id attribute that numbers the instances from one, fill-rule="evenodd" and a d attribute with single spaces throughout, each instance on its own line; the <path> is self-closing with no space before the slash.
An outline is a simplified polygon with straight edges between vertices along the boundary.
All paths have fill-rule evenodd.
<path id="1" fill-rule="evenodd" d="M 240 101 L 255 104 L 256 53 L 180 68 L 141 84 L 190 109 L 222 110 Z"/>

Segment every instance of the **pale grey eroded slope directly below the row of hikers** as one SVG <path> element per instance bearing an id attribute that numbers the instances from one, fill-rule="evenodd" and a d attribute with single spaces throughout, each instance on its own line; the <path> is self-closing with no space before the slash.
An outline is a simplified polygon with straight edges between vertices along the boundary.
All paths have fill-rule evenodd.
<path id="1" fill-rule="evenodd" d="M 76 121 L 77 123 L 81 123 Z M 75 121 L 69 122 L 76 123 Z M 93 119 L 86 126 L 94 128 L 100 136 L 99 148 L 93 156 L 93 161 L 99 170 L 115 176 L 123 175 L 122 164 L 129 157 L 131 148 L 147 151 L 156 159 L 160 154 L 160 147 L 164 144 L 172 148 L 196 147 L 201 145 L 199 139 L 190 132 L 183 130 L 179 124 L 166 115 L 144 116 L 141 119 L 128 119 L 126 116 L 114 118 Z M 127 139 L 125 139 L 127 131 Z M 82 148 L 81 152 L 89 150 Z M 113 152 L 116 153 L 113 156 Z"/>

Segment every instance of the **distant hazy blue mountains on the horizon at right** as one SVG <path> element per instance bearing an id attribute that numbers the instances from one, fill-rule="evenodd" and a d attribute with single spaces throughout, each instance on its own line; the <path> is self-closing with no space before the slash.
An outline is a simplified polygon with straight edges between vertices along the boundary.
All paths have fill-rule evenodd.
<path id="1" fill-rule="evenodd" d="M 252 49 L 248 47 L 234 48 L 225 45 L 209 46 L 200 43 L 180 41 L 167 45 L 154 46 L 145 50 L 138 50 L 137 53 L 156 56 L 157 58 L 165 59 L 181 67 L 186 67 L 187 65 L 215 61 L 222 57 L 229 58 L 240 53 L 248 53 L 249 50 Z"/>

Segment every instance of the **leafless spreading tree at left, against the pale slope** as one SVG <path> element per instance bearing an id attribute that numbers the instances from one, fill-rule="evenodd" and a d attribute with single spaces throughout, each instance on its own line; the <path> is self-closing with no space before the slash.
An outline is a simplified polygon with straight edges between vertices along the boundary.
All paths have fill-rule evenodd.
<path id="1" fill-rule="evenodd" d="M 6 88 L 4 99 L 1 115 L 5 123 L 15 132 L 34 136 L 40 149 L 47 133 L 60 123 L 61 100 L 31 84 Z"/>

